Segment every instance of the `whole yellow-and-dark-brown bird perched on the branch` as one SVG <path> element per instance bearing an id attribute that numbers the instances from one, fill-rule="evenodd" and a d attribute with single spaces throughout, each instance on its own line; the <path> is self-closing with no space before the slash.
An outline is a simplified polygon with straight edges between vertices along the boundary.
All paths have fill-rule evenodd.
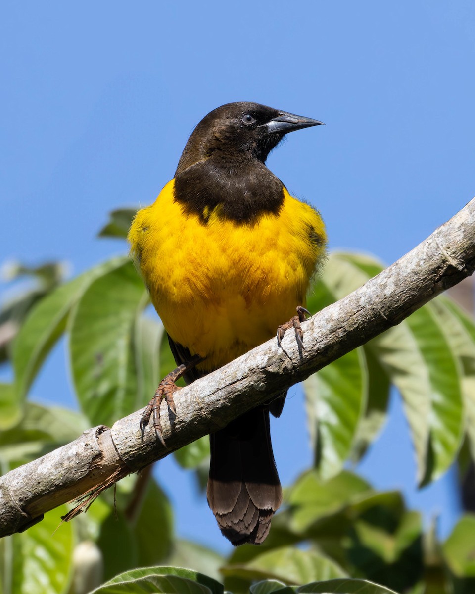
<path id="1" fill-rule="evenodd" d="M 327 235 L 319 212 L 265 161 L 284 135 L 320 124 L 259 103 L 222 105 L 195 127 L 156 201 L 135 215 L 131 255 L 177 364 L 142 431 L 153 418 L 163 441 L 160 404 L 176 414 L 178 378 L 189 384 L 276 334 L 280 346 L 289 328 L 303 347 L 306 293 L 325 263 Z M 210 434 L 207 500 L 235 546 L 261 544 L 281 505 L 269 414 L 280 416 L 285 396 Z"/>

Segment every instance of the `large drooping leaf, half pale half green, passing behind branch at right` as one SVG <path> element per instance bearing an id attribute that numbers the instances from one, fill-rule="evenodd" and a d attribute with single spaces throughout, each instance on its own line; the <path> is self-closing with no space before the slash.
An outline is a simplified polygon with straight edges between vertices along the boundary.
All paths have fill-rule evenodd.
<path id="1" fill-rule="evenodd" d="M 360 255 L 338 254 L 335 260 L 332 266 L 337 269 L 333 273 L 337 280 L 332 280 L 340 290 L 356 288 L 365 277 L 382 269 Z M 356 272 L 351 275 L 351 266 L 360 277 Z M 451 465 L 463 438 L 460 368 L 441 321 L 433 306 L 426 305 L 400 326 L 370 341 L 367 349 L 401 391 L 416 448 L 419 481 L 427 484 Z"/>

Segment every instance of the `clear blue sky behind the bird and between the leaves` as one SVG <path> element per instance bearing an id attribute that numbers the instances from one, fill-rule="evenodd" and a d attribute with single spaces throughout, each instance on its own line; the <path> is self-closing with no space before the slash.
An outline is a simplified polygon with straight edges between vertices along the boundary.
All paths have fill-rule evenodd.
<path id="1" fill-rule="evenodd" d="M 7 0 L 0 263 L 53 258 L 77 274 L 124 252 L 95 238 L 107 213 L 150 204 L 197 122 L 238 100 L 327 124 L 290 135 L 268 166 L 321 210 L 331 248 L 392 263 L 475 193 L 474 30 L 472 0 Z M 60 348 L 32 397 L 71 402 L 64 367 Z M 302 398 L 297 389 L 289 396 L 274 424 L 284 483 L 311 460 Z M 397 399 L 392 410 L 362 472 L 379 488 L 404 488 L 428 516 L 440 512 L 447 533 L 451 485 L 414 491 Z M 279 424 L 292 428 L 292 447 Z M 178 532 L 222 548 L 191 479 L 171 460 L 157 472 L 181 506 Z"/>

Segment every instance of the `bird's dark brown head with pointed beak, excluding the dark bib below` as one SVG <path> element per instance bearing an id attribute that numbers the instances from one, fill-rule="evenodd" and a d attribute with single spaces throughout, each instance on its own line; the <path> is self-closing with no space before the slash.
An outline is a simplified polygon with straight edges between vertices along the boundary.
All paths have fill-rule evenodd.
<path id="1" fill-rule="evenodd" d="M 265 163 L 285 134 L 321 123 L 259 103 L 221 105 L 208 113 L 192 132 L 176 175 L 208 159 L 230 168 L 249 160 Z"/>

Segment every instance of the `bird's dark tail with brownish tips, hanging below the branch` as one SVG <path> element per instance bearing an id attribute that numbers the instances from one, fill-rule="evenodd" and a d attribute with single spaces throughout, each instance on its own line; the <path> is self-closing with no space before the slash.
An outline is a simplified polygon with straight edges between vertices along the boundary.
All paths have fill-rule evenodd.
<path id="1" fill-rule="evenodd" d="M 259 545 L 282 503 L 269 410 L 258 407 L 210 435 L 208 504 L 233 545 Z"/>

